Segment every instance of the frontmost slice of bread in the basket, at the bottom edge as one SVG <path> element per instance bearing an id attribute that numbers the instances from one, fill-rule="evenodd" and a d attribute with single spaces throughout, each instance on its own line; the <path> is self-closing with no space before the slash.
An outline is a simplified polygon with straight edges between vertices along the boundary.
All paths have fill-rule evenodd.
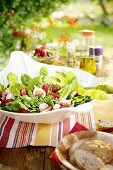
<path id="1" fill-rule="evenodd" d="M 76 149 L 73 156 L 75 157 L 75 164 L 83 170 L 99 170 L 105 165 L 100 158 L 84 149 Z"/>

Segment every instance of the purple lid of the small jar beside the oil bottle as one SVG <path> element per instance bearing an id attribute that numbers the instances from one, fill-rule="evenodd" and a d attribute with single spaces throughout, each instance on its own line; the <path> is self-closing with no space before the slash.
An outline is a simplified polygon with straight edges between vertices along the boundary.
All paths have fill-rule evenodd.
<path id="1" fill-rule="evenodd" d="M 102 55 L 103 54 L 103 47 L 101 45 L 90 46 L 89 47 L 89 54 L 90 55 Z"/>

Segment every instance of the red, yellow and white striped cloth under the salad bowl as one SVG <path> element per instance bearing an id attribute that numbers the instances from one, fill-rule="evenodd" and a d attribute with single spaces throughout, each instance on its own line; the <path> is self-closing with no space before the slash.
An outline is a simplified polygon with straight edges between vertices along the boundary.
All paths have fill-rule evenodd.
<path id="1" fill-rule="evenodd" d="M 79 122 L 89 130 L 95 130 L 93 112 L 75 113 L 54 124 L 35 124 L 14 120 L 0 115 L 0 147 L 19 148 L 27 145 L 53 146 Z"/>

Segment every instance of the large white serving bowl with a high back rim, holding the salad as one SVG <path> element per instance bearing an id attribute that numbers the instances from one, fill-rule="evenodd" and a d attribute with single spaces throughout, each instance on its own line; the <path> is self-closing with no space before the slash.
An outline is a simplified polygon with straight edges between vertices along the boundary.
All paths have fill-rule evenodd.
<path id="1" fill-rule="evenodd" d="M 4 85 L 7 85 L 6 76 L 9 72 L 14 72 L 19 78 L 21 74 L 28 74 L 31 77 L 35 77 L 38 75 L 40 68 L 46 66 L 49 74 L 54 75 L 55 71 L 59 71 L 62 69 L 66 69 L 68 71 L 73 71 L 78 79 L 78 82 L 82 86 L 96 86 L 99 85 L 100 82 L 97 77 L 93 76 L 90 73 L 85 71 L 76 69 L 76 68 L 69 68 L 69 67 L 62 67 L 62 66 L 53 66 L 47 65 L 43 63 L 39 63 L 34 61 L 30 57 L 28 57 L 24 52 L 21 51 L 14 51 L 11 53 L 11 57 L 9 60 L 8 65 L 4 70 L 0 72 L 0 82 Z M 91 110 L 92 105 L 91 102 L 79 105 L 75 108 L 64 108 L 55 111 L 43 112 L 43 113 L 32 113 L 32 114 L 20 114 L 14 112 L 8 112 L 0 110 L 0 113 L 5 114 L 11 118 L 16 120 L 24 121 L 24 122 L 31 122 L 31 123 L 56 123 L 58 121 L 64 120 L 65 118 L 69 117 L 69 115 L 76 112 L 86 112 Z"/>

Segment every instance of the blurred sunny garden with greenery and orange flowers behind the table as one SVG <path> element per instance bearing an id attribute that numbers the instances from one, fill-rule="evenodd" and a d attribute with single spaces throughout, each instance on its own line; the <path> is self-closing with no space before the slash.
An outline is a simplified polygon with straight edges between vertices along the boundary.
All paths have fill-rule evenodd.
<path id="1" fill-rule="evenodd" d="M 14 50 L 28 52 L 38 44 L 62 44 L 80 38 L 79 31 L 96 31 L 96 44 L 113 57 L 112 0 L 0 0 L 0 70 Z M 17 58 L 18 60 L 18 58 Z"/>

